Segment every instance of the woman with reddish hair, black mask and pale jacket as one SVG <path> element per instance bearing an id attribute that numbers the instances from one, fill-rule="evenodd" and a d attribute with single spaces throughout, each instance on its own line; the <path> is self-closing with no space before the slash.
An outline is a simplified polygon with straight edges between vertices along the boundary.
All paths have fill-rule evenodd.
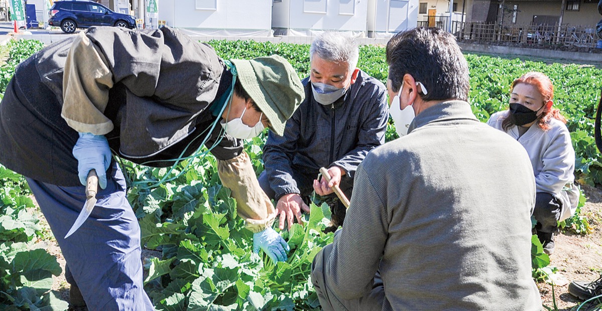
<path id="1" fill-rule="evenodd" d="M 558 221 L 574 214 L 579 188 L 574 184 L 575 150 L 566 119 L 552 108 L 554 87 L 541 72 L 525 73 L 510 86 L 509 109 L 489 118 L 488 125 L 506 132 L 525 147 L 535 173 L 533 217 L 544 252 L 554 252 Z"/>

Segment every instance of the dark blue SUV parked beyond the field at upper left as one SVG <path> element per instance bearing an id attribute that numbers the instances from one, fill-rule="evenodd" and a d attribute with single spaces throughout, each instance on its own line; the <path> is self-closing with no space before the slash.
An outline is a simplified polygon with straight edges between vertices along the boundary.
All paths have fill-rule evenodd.
<path id="1" fill-rule="evenodd" d="M 61 26 L 64 32 L 71 34 L 76 28 L 91 26 L 117 26 L 135 28 L 134 17 L 116 13 L 94 1 L 57 1 L 50 8 L 51 26 Z"/>

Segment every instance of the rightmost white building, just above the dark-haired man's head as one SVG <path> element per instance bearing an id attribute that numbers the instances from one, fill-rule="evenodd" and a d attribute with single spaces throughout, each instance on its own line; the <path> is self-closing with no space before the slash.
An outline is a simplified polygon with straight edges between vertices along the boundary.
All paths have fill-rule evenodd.
<path id="1" fill-rule="evenodd" d="M 368 36 L 391 37 L 397 32 L 415 28 L 418 0 L 369 0 Z"/>

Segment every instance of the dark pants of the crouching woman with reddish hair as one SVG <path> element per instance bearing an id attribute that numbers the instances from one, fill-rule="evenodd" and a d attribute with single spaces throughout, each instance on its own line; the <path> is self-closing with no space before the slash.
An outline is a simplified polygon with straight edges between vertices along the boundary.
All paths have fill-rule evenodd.
<path id="1" fill-rule="evenodd" d="M 562 202 L 548 192 L 537 192 L 533 217 L 537 220 L 535 229 L 538 232 L 554 233 L 558 229 Z"/>

